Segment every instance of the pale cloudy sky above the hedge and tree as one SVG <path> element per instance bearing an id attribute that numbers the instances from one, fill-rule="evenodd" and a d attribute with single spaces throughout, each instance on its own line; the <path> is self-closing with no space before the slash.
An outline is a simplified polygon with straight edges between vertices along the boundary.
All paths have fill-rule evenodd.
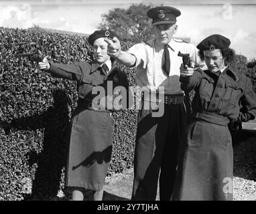
<path id="1" fill-rule="evenodd" d="M 0 27 L 26 29 L 38 25 L 90 34 L 101 23 L 102 14 L 137 3 L 180 9 L 176 37 L 189 37 L 197 45 L 218 33 L 231 39 L 237 54 L 247 60 L 256 58 L 256 0 L 0 0 Z"/>

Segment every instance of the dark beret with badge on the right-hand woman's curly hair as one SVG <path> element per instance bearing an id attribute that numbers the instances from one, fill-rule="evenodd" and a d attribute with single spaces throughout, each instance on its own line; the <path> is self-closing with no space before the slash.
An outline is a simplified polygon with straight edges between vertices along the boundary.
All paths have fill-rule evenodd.
<path id="1" fill-rule="evenodd" d="M 208 49 L 212 51 L 214 49 L 225 49 L 229 47 L 230 44 L 231 41 L 223 35 L 213 34 L 198 43 L 196 47 L 202 51 Z"/>

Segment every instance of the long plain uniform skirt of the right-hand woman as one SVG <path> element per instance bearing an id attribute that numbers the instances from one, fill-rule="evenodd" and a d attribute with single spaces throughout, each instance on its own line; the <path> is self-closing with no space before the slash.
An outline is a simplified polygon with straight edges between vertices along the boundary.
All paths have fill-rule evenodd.
<path id="1" fill-rule="evenodd" d="M 215 114 L 190 122 L 172 200 L 233 200 L 233 147 L 227 120 Z"/>

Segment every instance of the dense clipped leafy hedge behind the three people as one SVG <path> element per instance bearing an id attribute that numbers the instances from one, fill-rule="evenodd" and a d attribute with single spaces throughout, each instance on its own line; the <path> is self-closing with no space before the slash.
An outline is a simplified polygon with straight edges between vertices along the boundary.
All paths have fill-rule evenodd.
<path id="1" fill-rule="evenodd" d="M 133 43 L 122 42 L 123 49 Z M 76 107 L 76 83 L 38 71 L 27 58 L 15 55 L 40 49 L 53 62 L 90 62 L 86 37 L 43 30 L 0 28 L 0 200 L 44 199 L 64 188 L 66 133 Z M 255 69 L 237 56 L 231 67 L 256 86 Z M 119 65 L 135 85 L 135 70 Z M 186 96 L 190 115 L 193 93 Z M 113 114 L 113 154 L 108 174 L 133 165 L 137 110 Z"/>

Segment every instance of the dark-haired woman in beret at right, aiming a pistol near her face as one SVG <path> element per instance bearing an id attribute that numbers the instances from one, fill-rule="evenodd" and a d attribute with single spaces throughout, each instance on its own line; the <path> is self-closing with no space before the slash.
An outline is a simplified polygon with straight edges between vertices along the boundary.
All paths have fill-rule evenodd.
<path id="1" fill-rule="evenodd" d="M 228 124 L 255 118 L 256 94 L 249 78 L 227 67 L 235 57 L 230 43 L 222 35 L 210 35 L 197 45 L 208 70 L 180 68 L 181 88 L 196 94 L 172 200 L 233 200 Z"/>

